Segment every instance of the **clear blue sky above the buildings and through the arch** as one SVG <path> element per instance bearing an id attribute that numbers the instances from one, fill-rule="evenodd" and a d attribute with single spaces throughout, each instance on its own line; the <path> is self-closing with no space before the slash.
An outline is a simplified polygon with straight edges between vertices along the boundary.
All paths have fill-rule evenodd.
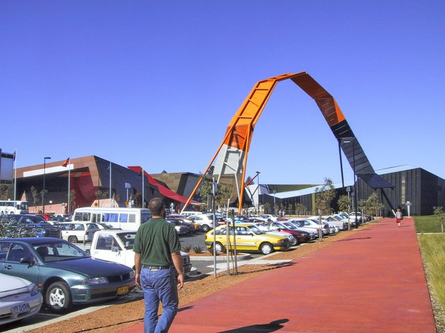
<path id="1" fill-rule="evenodd" d="M 97 155 L 202 172 L 257 81 L 307 71 L 374 169 L 445 178 L 444 17 L 445 1 L 3 0 L 0 147 L 17 148 L 17 167 Z M 339 182 L 337 149 L 314 101 L 284 81 L 248 175 Z"/>

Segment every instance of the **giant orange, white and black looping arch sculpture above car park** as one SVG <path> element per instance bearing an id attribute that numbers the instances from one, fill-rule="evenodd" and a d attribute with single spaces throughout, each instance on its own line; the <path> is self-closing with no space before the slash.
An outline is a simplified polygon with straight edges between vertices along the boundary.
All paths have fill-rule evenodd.
<path id="1" fill-rule="evenodd" d="M 218 184 L 220 182 L 234 182 L 234 195 L 232 194 L 232 198 L 235 196 L 238 199 L 238 212 L 241 212 L 245 188 L 245 170 L 255 124 L 261 116 L 261 112 L 263 112 L 277 83 L 289 79 L 314 99 L 323 117 L 325 117 L 327 124 L 330 126 L 334 137 L 337 138 L 339 146 L 345 154 L 351 168 L 355 170 L 357 177 L 373 189 L 394 188 L 394 185 L 375 173 L 368 157 L 366 157 L 362 146 L 360 146 L 334 97 L 314 80 L 312 76 L 302 71 L 297 74 L 283 74 L 261 80 L 254 85 L 252 91 L 248 94 L 230 121 L 229 126 L 227 126 L 223 141 L 215 155 L 213 155 L 203 176 L 197 182 L 183 210 L 185 210 L 190 203 L 191 198 L 193 198 L 195 192 L 200 187 L 204 175 L 207 174 L 213 162 L 216 160 L 213 176 L 218 178 Z M 353 144 L 350 144 L 351 142 L 353 142 Z M 384 194 L 383 191 L 382 194 Z M 385 198 L 387 198 L 386 195 Z M 234 202 L 234 200 L 232 200 L 232 202 Z M 389 203 L 389 205 L 391 205 L 391 203 Z"/>

